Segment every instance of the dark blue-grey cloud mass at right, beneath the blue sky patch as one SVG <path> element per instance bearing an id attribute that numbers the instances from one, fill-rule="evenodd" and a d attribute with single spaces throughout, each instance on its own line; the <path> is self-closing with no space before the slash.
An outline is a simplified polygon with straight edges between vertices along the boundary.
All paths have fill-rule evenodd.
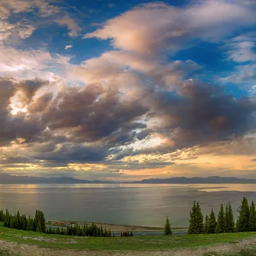
<path id="1" fill-rule="evenodd" d="M 171 149 L 234 140 L 255 131 L 256 100 L 234 99 L 220 86 L 187 81 L 179 88 L 179 95 L 161 92 L 157 97 L 152 95 L 152 102 L 164 119 L 155 132 L 170 138 L 166 147 Z"/>

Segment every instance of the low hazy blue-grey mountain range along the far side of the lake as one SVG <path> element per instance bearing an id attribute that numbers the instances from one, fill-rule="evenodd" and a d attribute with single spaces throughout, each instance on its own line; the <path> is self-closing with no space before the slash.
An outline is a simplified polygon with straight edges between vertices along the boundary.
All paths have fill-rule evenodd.
<path id="1" fill-rule="evenodd" d="M 33 176 L 16 176 L 0 173 L 0 184 L 250 184 L 256 179 L 241 179 L 235 177 L 173 177 L 169 179 L 144 179 L 133 182 L 113 182 L 106 180 L 79 180 L 70 177 L 43 178 Z"/>

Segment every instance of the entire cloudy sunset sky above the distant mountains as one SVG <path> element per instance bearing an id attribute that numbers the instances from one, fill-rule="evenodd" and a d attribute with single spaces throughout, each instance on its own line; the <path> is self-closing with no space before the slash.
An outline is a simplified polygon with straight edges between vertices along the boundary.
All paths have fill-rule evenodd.
<path id="1" fill-rule="evenodd" d="M 1 0 L 0 172 L 256 178 L 256 3 Z"/>

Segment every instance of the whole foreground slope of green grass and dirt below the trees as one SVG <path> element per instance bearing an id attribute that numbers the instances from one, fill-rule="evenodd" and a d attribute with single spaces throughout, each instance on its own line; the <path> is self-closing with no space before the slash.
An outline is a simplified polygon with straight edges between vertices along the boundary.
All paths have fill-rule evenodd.
<path id="1" fill-rule="evenodd" d="M 170 237 L 70 237 L 0 227 L 0 255 L 4 256 L 253 256 L 255 243 L 256 232 Z"/>

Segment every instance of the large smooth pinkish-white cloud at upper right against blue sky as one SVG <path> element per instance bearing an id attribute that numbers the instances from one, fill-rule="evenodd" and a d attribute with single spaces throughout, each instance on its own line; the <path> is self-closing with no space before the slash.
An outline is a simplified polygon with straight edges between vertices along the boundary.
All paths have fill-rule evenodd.
<path id="1" fill-rule="evenodd" d="M 216 42 L 253 22 L 255 12 L 241 1 L 202 1 L 179 8 L 154 3 L 110 19 L 84 38 L 110 38 L 118 49 L 154 54 L 177 51 L 195 38 Z"/>

